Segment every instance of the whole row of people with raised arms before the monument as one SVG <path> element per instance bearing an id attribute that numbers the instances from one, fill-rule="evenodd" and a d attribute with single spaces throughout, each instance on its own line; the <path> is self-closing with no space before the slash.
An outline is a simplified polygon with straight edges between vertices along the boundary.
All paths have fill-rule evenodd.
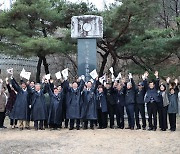
<path id="1" fill-rule="evenodd" d="M 61 79 L 59 85 L 45 78 L 42 83 L 21 80 L 19 84 L 13 77 L 6 78 L 5 84 L 0 79 L 0 128 L 6 128 L 4 119 L 9 116 L 11 128 L 20 130 L 30 129 L 31 121 L 35 130 L 62 127 L 79 130 L 95 126 L 105 129 L 108 125 L 114 129 L 114 117 L 117 128 L 124 129 L 126 111 L 126 129 L 156 131 L 159 127 L 162 131 L 168 128 L 175 131 L 178 80 L 172 82 L 168 77 L 165 83 L 160 83 L 158 72 L 154 75 L 156 79 L 148 81 L 149 74 L 145 72 L 137 85 L 131 73 L 127 80 L 119 77 L 100 82 L 97 77 L 85 82 L 81 76 L 73 83 Z"/>

